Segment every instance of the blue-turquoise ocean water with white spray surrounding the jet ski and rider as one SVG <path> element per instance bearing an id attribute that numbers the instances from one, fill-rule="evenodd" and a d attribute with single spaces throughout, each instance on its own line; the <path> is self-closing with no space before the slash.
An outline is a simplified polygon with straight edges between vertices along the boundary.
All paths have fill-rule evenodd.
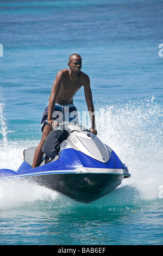
<path id="1" fill-rule="evenodd" d="M 0 181 L 1 245 L 162 245 L 162 21 L 162 1 L 1 0 L 0 168 L 39 143 L 55 75 L 79 53 L 98 137 L 131 174 L 89 205 Z M 89 127 L 83 89 L 74 104 Z"/>

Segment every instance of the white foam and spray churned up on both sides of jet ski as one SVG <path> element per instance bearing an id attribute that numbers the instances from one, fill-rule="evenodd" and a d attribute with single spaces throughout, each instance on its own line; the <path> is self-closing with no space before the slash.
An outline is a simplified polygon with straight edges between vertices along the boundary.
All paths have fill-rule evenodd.
<path id="1" fill-rule="evenodd" d="M 131 178 L 124 179 L 115 191 L 91 205 L 133 205 L 159 200 L 159 187 L 163 185 L 162 173 L 162 108 L 150 99 L 128 101 L 117 105 L 97 106 L 98 137 L 126 163 Z M 8 155 L 0 147 L 0 166 L 17 170 L 22 163 L 24 148 L 36 141 L 8 142 Z M 8 162 L 9 158 L 9 162 Z M 27 181 L 1 181 L 3 199 L 1 208 L 43 200 L 56 207 L 78 205 L 60 193 Z M 59 204 L 57 203 L 59 202 Z M 64 202 L 64 203 L 63 203 Z"/>

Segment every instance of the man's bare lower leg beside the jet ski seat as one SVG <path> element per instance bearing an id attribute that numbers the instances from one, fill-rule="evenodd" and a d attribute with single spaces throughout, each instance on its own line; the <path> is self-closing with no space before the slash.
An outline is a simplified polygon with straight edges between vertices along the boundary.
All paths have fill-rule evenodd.
<path id="1" fill-rule="evenodd" d="M 45 128 L 43 129 L 41 141 L 35 151 L 32 168 L 39 166 L 41 159 L 43 157 L 43 152 L 42 152 L 43 144 L 45 143 L 46 138 L 51 131 L 53 131 L 52 126 L 45 125 Z"/>

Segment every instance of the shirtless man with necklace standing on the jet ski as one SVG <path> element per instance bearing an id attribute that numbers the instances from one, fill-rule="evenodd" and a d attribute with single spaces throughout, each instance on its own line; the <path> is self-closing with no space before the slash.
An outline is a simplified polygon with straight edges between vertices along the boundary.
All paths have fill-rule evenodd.
<path id="1" fill-rule="evenodd" d="M 95 113 L 94 113 L 95 110 L 94 110 L 93 101 L 92 101 L 90 79 L 89 79 L 89 76 L 87 76 L 86 74 L 84 74 L 84 72 L 81 71 L 82 58 L 79 56 L 79 54 L 72 54 L 70 56 L 68 66 L 69 66 L 69 69 L 62 69 L 58 72 L 55 78 L 55 81 L 53 83 L 52 92 L 49 97 L 48 107 L 45 109 L 45 113 L 42 119 L 43 120 L 42 138 L 35 151 L 32 168 L 39 166 L 40 161 L 43 157 L 43 152 L 42 152 L 43 144 L 45 143 L 49 133 L 53 130 L 52 124 L 55 123 L 55 125 L 57 125 L 57 123 L 52 118 L 55 105 L 72 106 L 73 97 L 82 86 L 84 86 L 85 100 L 86 100 L 87 108 L 89 110 L 89 114 L 91 118 L 90 131 L 95 135 L 97 135 L 97 131 L 95 128 Z"/>

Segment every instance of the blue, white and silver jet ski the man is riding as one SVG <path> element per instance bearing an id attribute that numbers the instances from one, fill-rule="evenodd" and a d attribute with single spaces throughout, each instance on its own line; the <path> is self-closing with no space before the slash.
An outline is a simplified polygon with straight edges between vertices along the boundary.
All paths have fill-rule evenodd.
<path id="1" fill-rule="evenodd" d="M 61 124 L 49 133 L 40 166 L 32 169 L 35 150 L 24 150 L 16 172 L 0 169 L 0 179 L 30 179 L 78 202 L 91 203 L 130 177 L 115 152 L 79 124 Z"/>

